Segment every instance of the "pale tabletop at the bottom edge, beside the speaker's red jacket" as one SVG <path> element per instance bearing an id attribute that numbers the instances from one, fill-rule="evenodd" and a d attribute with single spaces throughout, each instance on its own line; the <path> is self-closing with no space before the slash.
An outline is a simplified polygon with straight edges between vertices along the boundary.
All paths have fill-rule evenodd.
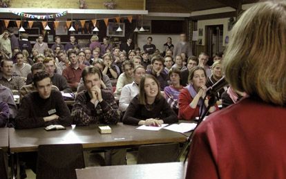
<path id="1" fill-rule="evenodd" d="M 159 164 L 136 164 L 110 167 L 88 167 L 76 169 L 77 179 L 105 178 L 105 179 L 176 179 L 185 178 L 187 162 L 171 162 Z"/>

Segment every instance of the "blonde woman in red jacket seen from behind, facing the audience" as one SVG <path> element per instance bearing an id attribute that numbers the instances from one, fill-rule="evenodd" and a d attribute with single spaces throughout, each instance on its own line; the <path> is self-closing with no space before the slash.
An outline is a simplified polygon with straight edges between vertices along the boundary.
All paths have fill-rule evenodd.
<path id="1" fill-rule="evenodd" d="M 233 27 L 225 76 L 249 97 L 198 127 L 186 178 L 286 178 L 285 19 L 286 2 L 267 1 Z"/>

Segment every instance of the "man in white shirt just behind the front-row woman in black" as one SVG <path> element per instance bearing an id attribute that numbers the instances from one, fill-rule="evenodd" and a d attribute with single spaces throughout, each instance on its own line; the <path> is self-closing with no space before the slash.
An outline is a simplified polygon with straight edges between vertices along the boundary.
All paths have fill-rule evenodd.
<path id="1" fill-rule="evenodd" d="M 133 97 L 139 93 L 139 83 L 140 79 L 146 74 L 144 66 L 135 66 L 133 70 L 134 82 L 131 84 L 126 84 L 121 91 L 119 109 L 120 111 L 126 111 L 128 105 L 130 104 Z"/>

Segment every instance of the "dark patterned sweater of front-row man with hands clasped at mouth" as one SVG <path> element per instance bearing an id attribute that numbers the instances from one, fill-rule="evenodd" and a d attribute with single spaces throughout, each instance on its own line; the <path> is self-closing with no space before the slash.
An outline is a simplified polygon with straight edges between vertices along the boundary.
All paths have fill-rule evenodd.
<path id="1" fill-rule="evenodd" d="M 77 94 L 73 105 L 73 123 L 77 125 L 88 124 L 117 124 L 120 120 L 120 111 L 115 102 L 113 93 L 102 90 L 102 102 L 97 106 L 90 102 L 87 91 Z"/>

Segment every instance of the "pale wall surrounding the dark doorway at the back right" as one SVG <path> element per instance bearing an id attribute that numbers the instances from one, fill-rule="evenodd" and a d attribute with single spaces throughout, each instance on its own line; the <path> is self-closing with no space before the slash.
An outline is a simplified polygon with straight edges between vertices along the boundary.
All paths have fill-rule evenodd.
<path id="1" fill-rule="evenodd" d="M 202 39 L 202 46 L 204 46 L 204 44 L 205 44 L 206 26 L 213 26 L 213 25 L 223 25 L 223 44 L 222 44 L 222 46 L 225 46 L 225 37 L 229 36 L 228 21 L 229 21 L 229 18 L 209 19 L 209 20 L 198 21 L 198 29 L 199 28 L 203 29 L 202 36 L 198 37 L 198 39 Z"/>

